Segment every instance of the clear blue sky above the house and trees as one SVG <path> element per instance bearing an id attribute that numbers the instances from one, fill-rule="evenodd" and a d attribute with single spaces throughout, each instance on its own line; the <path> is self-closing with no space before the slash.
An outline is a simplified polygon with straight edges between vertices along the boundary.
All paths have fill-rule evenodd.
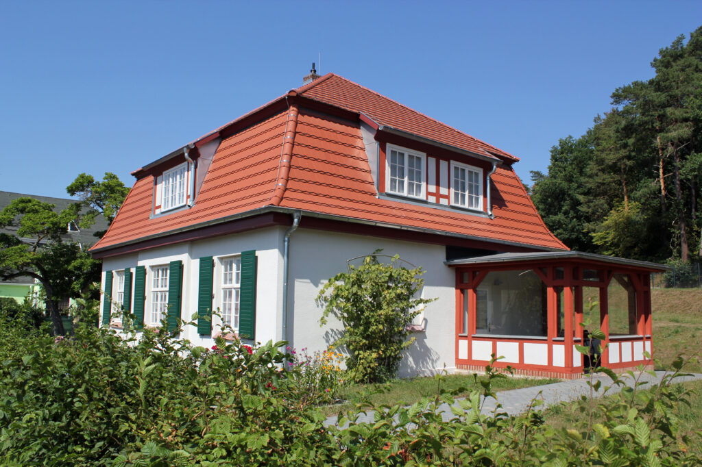
<path id="1" fill-rule="evenodd" d="M 546 171 L 700 1 L 0 0 L 0 190 L 67 196 L 300 86 L 312 62 Z M 319 68 L 319 64 L 317 65 Z"/>

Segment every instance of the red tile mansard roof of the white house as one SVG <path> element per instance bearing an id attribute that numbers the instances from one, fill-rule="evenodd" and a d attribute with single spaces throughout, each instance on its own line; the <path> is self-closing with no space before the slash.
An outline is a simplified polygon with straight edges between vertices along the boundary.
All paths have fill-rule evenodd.
<path id="1" fill-rule="evenodd" d="M 340 76 L 323 76 L 296 92 L 335 107 L 363 112 L 382 125 L 468 151 L 489 151 L 503 160 L 515 160 L 489 144 Z M 192 208 L 152 216 L 154 175 L 141 174 L 107 234 L 93 250 L 272 207 L 287 116 L 288 112 L 283 111 L 226 137 L 213 157 Z M 494 219 L 436 205 L 378 198 L 359 123 L 304 108 L 299 112 L 290 164 L 287 187 L 277 209 L 303 210 L 309 215 L 380 222 L 538 249 L 567 249 L 543 224 L 509 164 L 498 165 L 492 176 Z"/>

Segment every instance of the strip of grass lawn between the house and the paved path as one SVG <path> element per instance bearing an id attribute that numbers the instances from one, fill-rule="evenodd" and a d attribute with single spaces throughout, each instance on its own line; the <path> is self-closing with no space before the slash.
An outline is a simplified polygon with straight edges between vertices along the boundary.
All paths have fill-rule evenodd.
<path id="1" fill-rule="evenodd" d="M 482 379 L 483 377 L 478 377 Z M 493 382 L 494 391 L 505 391 L 508 389 L 527 388 L 529 386 L 538 386 L 540 384 L 549 384 L 560 381 L 559 379 L 531 379 L 531 378 L 503 378 L 496 379 Z M 385 385 L 376 384 L 353 384 L 344 388 L 340 393 L 340 398 L 347 400 L 344 405 L 334 405 L 331 407 L 323 407 L 325 414 L 337 414 L 339 410 L 350 408 L 360 402 L 363 402 L 364 397 L 373 402 L 375 405 L 412 405 L 423 397 L 433 397 L 439 393 L 439 381 L 433 377 L 416 377 L 409 379 L 395 379 Z M 481 388 L 478 383 L 476 386 L 475 379 L 470 374 L 450 374 L 441 379 L 441 388 L 453 390 L 465 387 L 459 395 L 465 396 L 472 389 Z M 380 393 L 372 393 L 378 389 Z"/>

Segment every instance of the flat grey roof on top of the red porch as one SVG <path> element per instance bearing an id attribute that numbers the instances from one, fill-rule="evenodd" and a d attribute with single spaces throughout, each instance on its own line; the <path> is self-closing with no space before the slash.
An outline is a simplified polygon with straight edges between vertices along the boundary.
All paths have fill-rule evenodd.
<path id="1" fill-rule="evenodd" d="M 651 263 L 647 261 L 638 261 L 637 259 L 618 258 L 607 255 L 596 255 L 595 253 L 586 253 L 581 251 L 543 251 L 543 252 L 525 252 L 525 253 L 498 253 L 497 255 L 476 256 L 463 259 L 451 259 L 444 264 L 451 267 L 456 266 L 476 266 L 480 264 L 505 264 L 505 263 L 521 263 L 521 262 L 557 262 L 557 261 L 575 261 L 592 266 L 606 266 L 609 264 L 617 264 L 629 268 L 644 269 L 646 271 L 668 271 L 672 269 L 664 264 Z"/>

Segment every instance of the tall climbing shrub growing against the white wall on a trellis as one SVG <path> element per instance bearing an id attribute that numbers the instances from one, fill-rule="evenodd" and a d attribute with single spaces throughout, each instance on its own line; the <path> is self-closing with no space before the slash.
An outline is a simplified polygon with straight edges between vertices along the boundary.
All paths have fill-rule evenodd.
<path id="1" fill-rule="evenodd" d="M 395 255 L 387 264 L 378 262 L 377 251 L 361 266 L 350 266 L 322 287 L 317 303 L 324 305 L 320 322 L 330 315 L 343 324 L 333 346 L 345 346 L 350 378 L 357 382 L 385 381 L 395 377 L 402 351 L 414 338 L 407 327 L 431 299 L 418 298 L 424 280 L 421 268 L 399 266 Z"/>

